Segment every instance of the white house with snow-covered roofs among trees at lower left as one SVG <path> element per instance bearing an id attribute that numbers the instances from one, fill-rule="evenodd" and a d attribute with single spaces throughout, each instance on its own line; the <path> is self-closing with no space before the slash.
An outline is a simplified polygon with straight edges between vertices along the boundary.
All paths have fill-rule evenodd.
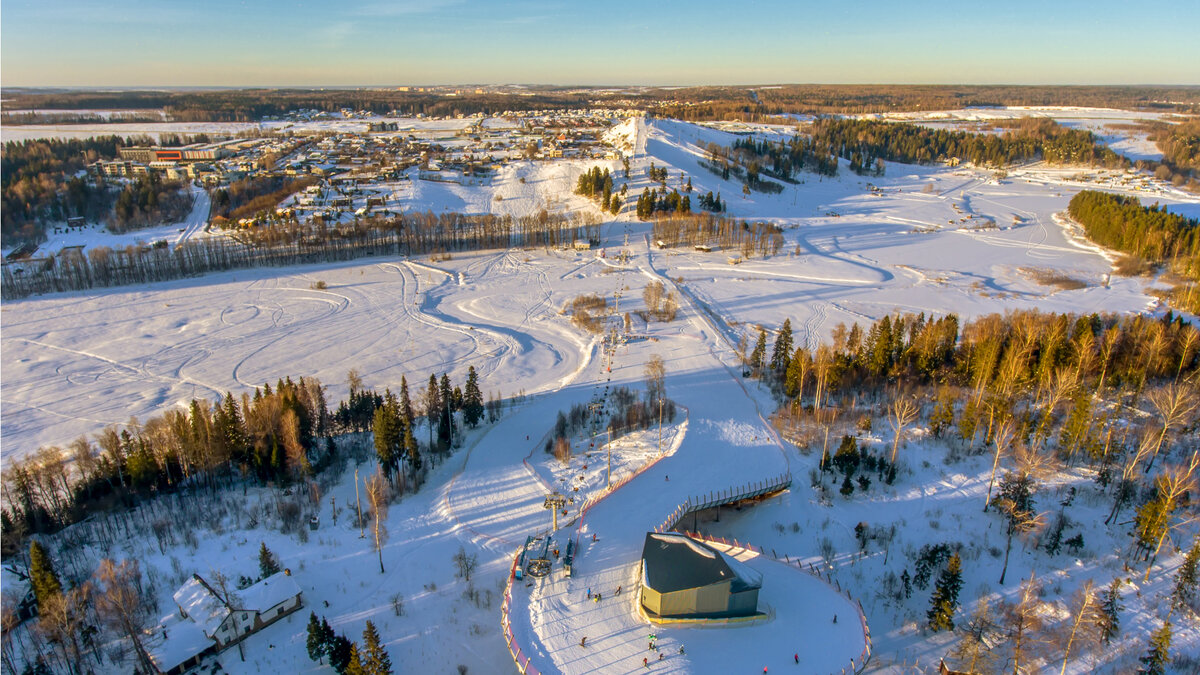
<path id="1" fill-rule="evenodd" d="M 302 605 L 300 586 L 287 571 L 228 593 L 192 574 L 173 598 L 179 614 L 158 626 L 163 639 L 148 650 L 155 668 L 166 675 L 187 673 L 204 657 L 245 640 Z"/>

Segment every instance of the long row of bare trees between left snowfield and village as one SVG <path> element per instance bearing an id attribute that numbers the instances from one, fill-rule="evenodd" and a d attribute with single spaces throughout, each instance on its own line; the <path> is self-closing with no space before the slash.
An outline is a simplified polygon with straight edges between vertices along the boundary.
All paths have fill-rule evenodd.
<path id="1" fill-rule="evenodd" d="M 598 238 L 598 223 L 540 210 L 528 216 L 407 213 L 355 219 L 326 226 L 286 222 L 206 237 L 167 246 L 109 249 L 97 246 L 86 257 L 42 261 L 38 267 L 7 264 L 0 276 L 5 300 L 36 293 L 148 283 L 211 271 L 251 267 L 348 261 L 379 255 L 426 255 L 508 247 L 557 247 L 575 239 Z"/>

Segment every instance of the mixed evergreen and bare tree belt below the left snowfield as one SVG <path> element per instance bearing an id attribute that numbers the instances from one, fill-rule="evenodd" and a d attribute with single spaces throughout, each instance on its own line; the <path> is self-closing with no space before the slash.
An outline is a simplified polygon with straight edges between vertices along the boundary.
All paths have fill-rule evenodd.
<path id="1" fill-rule="evenodd" d="M 364 387 L 350 371 L 349 398 L 331 411 L 316 378 L 280 380 L 240 398 L 193 399 L 125 429 L 108 426 L 66 448 L 38 448 L 8 462 L 2 474 L 2 552 L 17 551 L 30 534 L 56 532 L 112 508 L 134 506 L 182 488 L 216 490 L 234 482 L 295 484 L 337 459 L 332 438 L 374 431 L 377 456 L 392 488 L 403 491 L 397 467 L 406 462 L 420 485 L 421 456 L 445 454 L 457 435 L 455 416 L 474 428 L 499 417 L 500 401 L 484 401 L 472 366 L 466 388 L 430 375 L 418 401 L 401 380 L 400 396 Z M 418 416 L 430 429 L 422 449 L 414 437 Z"/>

